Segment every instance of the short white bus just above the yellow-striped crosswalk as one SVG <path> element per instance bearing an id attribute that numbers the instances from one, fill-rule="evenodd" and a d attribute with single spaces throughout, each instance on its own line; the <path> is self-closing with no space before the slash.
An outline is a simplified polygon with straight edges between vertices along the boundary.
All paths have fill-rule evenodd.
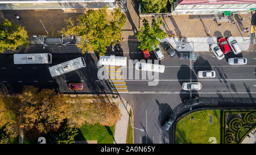
<path id="1" fill-rule="evenodd" d="M 112 66 L 126 66 L 127 57 L 119 56 L 100 56 L 100 65 L 112 65 Z"/>

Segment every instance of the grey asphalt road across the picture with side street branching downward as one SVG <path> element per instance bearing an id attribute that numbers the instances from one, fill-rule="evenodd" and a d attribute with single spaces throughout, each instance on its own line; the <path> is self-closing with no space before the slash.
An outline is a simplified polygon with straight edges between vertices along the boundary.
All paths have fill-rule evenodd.
<path id="1" fill-rule="evenodd" d="M 130 43 L 131 42 L 131 43 Z M 142 60 L 142 54 L 134 40 L 123 43 L 117 56 L 126 56 L 129 60 Z M 47 47 L 49 48 L 49 47 Z M 57 48 L 57 47 L 55 47 Z M 35 48 L 34 48 L 35 49 Z M 40 48 L 37 52 L 40 51 Z M 135 129 L 135 143 L 172 143 L 171 132 L 163 131 L 162 123 L 170 112 L 180 112 L 179 106 L 187 98 L 196 96 L 205 98 L 256 98 L 256 54 L 255 47 L 242 52 L 237 57 L 246 57 L 247 65 L 228 65 L 228 58 L 235 57 L 229 53 L 222 60 L 217 60 L 212 52 L 197 52 L 196 61 L 179 60 L 171 58 L 164 53 L 164 59 L 159 64 L 165 65 L 164 73 L 153 74 L 156 86 L 149 86 L 150 77 L 135 78 L 134 65 L 122 68 L 127 76 L 126 86 L 129 94 L 121 94 L 131 104 L 134 114 L 134 127 L 144 128 L 145 132 Z M 65 47 L 64 51 L 68 51 Z M 154 53 L 151 59 L 155 60 Z M 99 80 L 97 62 L 90 54 L 82 55 L 77 51 L 54 52 L 53 64 L 40 65 L 14 65 L 13 54 L 0 55 L 0 91 L 4 93 L 18 93 L 23 85 L 34 85 L 42 88 L 53 88 L 61 93 L 112 93 L 112 87 L 108 80 Z M 84 57 L 86 67 L 62 76 L 52 78 L 48 67 L 71 60 L 76 57 Z M 129 72 L 125 71 L 129 70 Z M 199 70 L 215 70 L 215 78 L 197 78 Z M 142 74 L 142 72 L 139 72 Z M 132 76 L 131 76 L 132 75 Z M 146 74 L 147 75 L 147 74 Z M 129 77 L 130 76 L 130 77 Z M 200 82 L 202 89 L 199 91 L 184 91 L 181 89 L 183 82 Z M 84 90 L 73 91 L 68 89 L 68 83 L 82 82 Z M 220 106 L 220 105 L 216 105 Z"/>

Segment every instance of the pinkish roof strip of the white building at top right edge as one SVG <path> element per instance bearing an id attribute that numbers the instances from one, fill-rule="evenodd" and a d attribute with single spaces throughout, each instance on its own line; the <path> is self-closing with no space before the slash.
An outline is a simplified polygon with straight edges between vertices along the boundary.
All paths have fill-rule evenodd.
<path id="1" fill-rule="evenodd" d="M 255 3 L 255 0 L 178 0 L 179 5 L 231 5 Z"/>

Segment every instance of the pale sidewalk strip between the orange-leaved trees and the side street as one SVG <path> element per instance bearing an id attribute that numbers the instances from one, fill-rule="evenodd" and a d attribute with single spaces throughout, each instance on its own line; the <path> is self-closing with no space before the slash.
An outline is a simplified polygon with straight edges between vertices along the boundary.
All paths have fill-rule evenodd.
<path id="1" fill-rule="evenodd" d="M 128 123 L 130 123 L 129 112 L 131 106 L 127 104 L 126 100 L 121 100 L 122 102 L 119 102 L 118 108 L 121 111 L 122 118 L 115 124 L 115 144 L 126 144 L 127 128 Z"/>

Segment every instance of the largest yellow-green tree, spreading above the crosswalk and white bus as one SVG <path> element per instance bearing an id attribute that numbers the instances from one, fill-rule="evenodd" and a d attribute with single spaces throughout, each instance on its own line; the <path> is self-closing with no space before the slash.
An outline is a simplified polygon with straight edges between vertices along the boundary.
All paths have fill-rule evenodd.
<path id="1" fill-rule="evenodd" d="M 111 16 L 106 10 L 106 6 L 99 10 L 88 10 L 77 18 L 77 24 L 72 19 L 68 19 L 68 26 L 61 33 L 66 36 L 81 36 L 77 47 L 82 49 L 83 53 L 98 51 L 100 55 L 105 55 L 106 47 L 112 43 L 117 44 L 121 39 L 122 27 L 126 22 L 126 16 L 119 8 L 115 9 Z"/>

